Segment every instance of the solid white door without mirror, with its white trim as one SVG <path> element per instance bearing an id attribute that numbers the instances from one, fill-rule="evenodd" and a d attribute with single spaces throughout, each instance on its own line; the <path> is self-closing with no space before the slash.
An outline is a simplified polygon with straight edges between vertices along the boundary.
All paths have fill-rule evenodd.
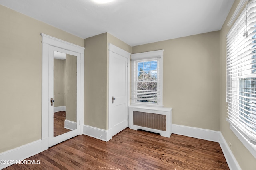
<path id="1" fill-rule="evenodd" d="M 116 51 L 114 49 L 117 49 Z M 111 51 L 112 50 L 112 51 Z M 114 51 L 114 52 L 113 52 Z M 130 53 L 110 44 L 109 139 L 128 127 L 128 62 Z"/>

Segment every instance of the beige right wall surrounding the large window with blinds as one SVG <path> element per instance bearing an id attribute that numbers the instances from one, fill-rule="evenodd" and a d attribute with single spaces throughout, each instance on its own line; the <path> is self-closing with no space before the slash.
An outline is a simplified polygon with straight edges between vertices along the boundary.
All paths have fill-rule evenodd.
<path id="1" fill-rule="evenodd" d="M 220 31 L 220 66 L 221 66 L 221 95 L 220 95 L 220 131 L 226 142 L 232 143 L 232 152 L 240 164 L 242 170 L 255 170 L 256 159 L 246 147 L 240 142 L 240 140 L 234 135 L 234 133 L 229 128 L 229 123 L 226 121 L 227 117 L 227 105 L 226 105 L 226 34 L 230 30 L 230 27 L 227 26 L 228 21 L 233 15 L 236 7 L 240 0 L 235 0 L 228 17 L 222 26 Z"/>

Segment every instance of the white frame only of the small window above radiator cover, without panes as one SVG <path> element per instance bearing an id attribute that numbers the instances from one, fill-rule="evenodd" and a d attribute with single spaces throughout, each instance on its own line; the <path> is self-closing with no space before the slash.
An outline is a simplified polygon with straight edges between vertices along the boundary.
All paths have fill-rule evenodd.
<path id="1" fill-rule="evenodd" d="M 132 69 L 131 69 L 131 105 L 137 106 L 153 106 L 153 107 L 163 107 L 163 53 L 164 50 L 149 51 L 144 53 L 135 53 L 131 55 Z M 136 98 L 137 90 L 137 78 L 138 78 L 138 68 L 134 65 L 139 61 L 149 59 L 158 60 L 157 65 L 157 102 L 138 102 Z"/>

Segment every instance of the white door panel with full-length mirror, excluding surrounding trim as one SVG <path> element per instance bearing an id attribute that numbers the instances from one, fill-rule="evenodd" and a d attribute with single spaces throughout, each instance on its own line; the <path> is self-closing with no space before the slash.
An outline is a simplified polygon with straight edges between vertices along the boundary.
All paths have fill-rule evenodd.
<path id="1" fill-rule="evenodd" d="M 49 147 L 79 135 L 80 55 L 49 47 Z"/>

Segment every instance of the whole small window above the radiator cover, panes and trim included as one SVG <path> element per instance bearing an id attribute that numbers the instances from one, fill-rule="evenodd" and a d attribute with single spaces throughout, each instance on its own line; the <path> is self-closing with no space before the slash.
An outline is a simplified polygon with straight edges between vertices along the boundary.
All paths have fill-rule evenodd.
<path id="1" fill-rule="evenodd" d="M 132 54 L 132 104 L 163 107 L 163 51 Z"/>

